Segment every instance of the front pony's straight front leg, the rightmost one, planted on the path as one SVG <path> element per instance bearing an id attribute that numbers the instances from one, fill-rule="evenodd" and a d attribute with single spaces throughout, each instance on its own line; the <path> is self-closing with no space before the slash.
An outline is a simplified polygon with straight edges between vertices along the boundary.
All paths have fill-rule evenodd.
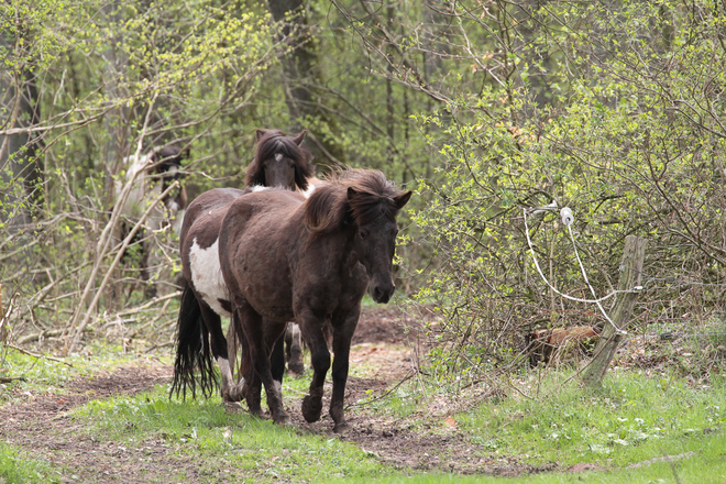
<path id="1" fill-rule="evenodd" d="M 334 432 L 344 432 L 350 426 L 343 416 L 343 399 L 345 397 L 345 383 L 348 382 L 348 370 L 351 352 L 351 340 L 361 316 L 360 305 L 346 315 L 333 315 L 333 359 L 332 381 L 333 389 L 330 399 L 330 417 L 336 422 Z"/>

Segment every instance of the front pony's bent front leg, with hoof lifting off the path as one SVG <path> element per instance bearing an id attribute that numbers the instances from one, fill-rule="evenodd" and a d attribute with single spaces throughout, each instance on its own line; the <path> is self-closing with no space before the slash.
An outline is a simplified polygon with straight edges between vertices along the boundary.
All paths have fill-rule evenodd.
<path id="1" fill-rule="evenodd" d="M 302 417 L 308 422 L 320 420 L 322 413 L 322 385 L 326 383 L 326 374 L 330 369 L 330 352 L 322 333 L 321 318 L 308 312 L 299 318 L 302 334 L 308 346 L 310 346 L 310 363 L 312 364 L 312 382 L 310 382 L 310 394 L 302 399 Z"/>

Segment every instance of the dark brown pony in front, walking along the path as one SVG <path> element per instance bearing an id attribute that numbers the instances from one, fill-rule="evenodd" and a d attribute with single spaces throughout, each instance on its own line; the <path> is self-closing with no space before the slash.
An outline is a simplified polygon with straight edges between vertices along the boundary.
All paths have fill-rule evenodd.
<path id="1" fill-rule="evenodd" d="M 334 431 L 348 428 L 343 396 L 361 299 L 369 285 L 376 302 L 387 302 L 394 293 L 396 216 L 410 195 L 397 190 L 381 172 L 349 170 L 307 199 L 293 191 L 266 190 L 232 202 L 219 233 L 219 256 L 241 331 L 248 385 L 243 393 L 252 414 L 261 414 L 264 385 L 273 420 L 288 422 L 270 354 L 287 321 L 295 320 L 310 348 L 315 372 L 302 416 L 309 422 L 320 418 L 330 369 L 323 336 L 329 318 L 336 355 L 330 416 Z"/>

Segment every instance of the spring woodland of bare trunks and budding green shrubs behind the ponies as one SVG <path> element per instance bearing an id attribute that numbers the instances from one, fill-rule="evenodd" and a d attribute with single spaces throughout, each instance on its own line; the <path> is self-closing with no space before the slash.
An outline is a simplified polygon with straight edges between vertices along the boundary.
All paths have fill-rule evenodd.
<path id="1" fill-rule="evenodd" d="M 441 316 L 441 374 L 602 328 L 617 296 L 558 292 L 610 295 L 630 234 L 648 246 L 629 330 L 713 337 L 700 371 L 724 358 L 722 2 L 10 0 L 0 34 L 3 343 L 78 351 L 146 311 L 129 339 L 166 344 L 176 234 L 144 232 L 151 283 L 114 268 L 123 160 L 188 147 L 193 198 L 241 186 L 255 129 L 276 128 L 308 131 L 321 174 L 416 189 L 398 287 Z M 526 212 L 553 202 L 572 226 Z"/>

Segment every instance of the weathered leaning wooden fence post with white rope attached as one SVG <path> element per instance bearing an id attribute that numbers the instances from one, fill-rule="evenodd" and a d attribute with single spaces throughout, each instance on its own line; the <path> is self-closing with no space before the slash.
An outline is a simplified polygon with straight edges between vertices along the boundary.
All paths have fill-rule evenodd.
<path id="1" fill-rule="evenodd" d="M 630 314 L 638 299 L 638 292 L 634 290 L 640 286 L 642 263 L 646 258 L 646 239 L 636 235 L 625 238 L 623 249 L 623 262 L 620 263 L 620 277 L 618 290 L 630 290 L 630 293 L 618 294 L 612 320 L 618 329 L 625 330 L 630 322 Z M 605 322 L 600 342 L 595 348 L 595 356 L 582 374 L 582 381 L 591 388 L 600 387 L 605 377 L 605 372 L 615 355 L 615 351 L 623 339 L 623 334 L 615 331 L 613 324 Z"/>

